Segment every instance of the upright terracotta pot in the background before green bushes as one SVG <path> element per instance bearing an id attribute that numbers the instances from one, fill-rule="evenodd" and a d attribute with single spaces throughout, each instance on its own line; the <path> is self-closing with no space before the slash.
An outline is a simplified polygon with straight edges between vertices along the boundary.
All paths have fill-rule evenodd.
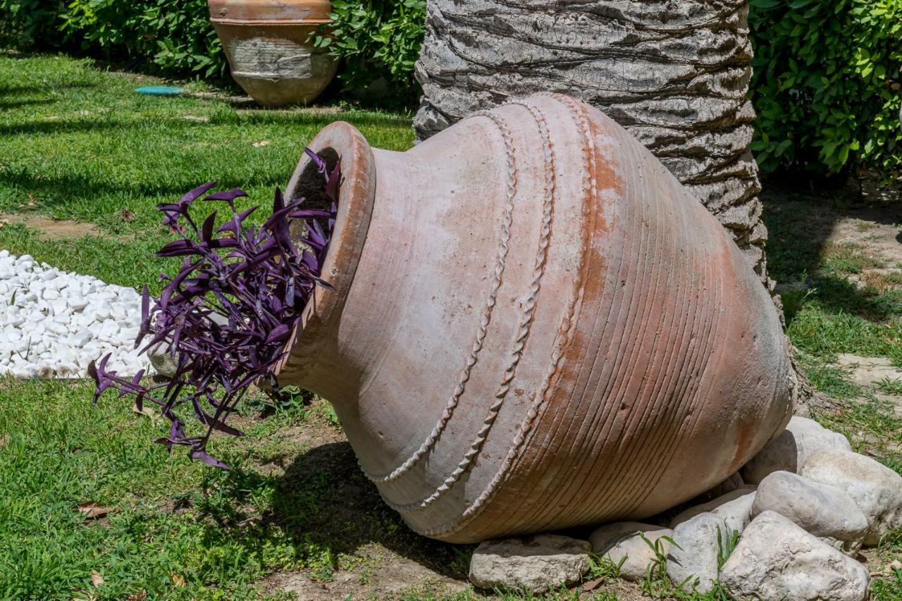
<path id="1" fill-rule="evenodd" d="M 312 102 L 336 61 L 308 42 L 329 23 L 329 0 L 208 0 L 232 77 L 263 106 Z"/>

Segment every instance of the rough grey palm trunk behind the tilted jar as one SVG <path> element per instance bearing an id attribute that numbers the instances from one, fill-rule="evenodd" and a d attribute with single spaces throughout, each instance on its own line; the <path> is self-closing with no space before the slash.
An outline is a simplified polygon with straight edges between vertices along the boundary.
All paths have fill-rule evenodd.
<path id="1" fill-rule="evenodd" d="M 729 228 L 767 276 L 744 0 L 428 0 L 420 139 L 508 97 L 598 106 Z"/>

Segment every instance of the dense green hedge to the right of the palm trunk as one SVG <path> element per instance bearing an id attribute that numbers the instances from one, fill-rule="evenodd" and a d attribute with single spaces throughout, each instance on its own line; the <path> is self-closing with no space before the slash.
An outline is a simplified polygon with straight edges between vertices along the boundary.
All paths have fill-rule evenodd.
<path id="1" fill-rule="evenodd" d="M 750 28 L 759 164 L 897 177 L 902 0 L 751 0 Z"/>

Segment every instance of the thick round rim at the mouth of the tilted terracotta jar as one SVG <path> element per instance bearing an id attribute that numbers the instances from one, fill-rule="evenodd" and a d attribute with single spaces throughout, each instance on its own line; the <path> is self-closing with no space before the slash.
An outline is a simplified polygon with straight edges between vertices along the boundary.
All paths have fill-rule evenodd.
<path id="1" fill-rule="evenodd" d="M 328 348 L 334 338 L 327 333 L 336 328 L 347 292 L 354 282 L 376 196 L 373 150 L 353 125 L 345 121 L 327 125 L 307 146 L 326 161 L 330 171 L 341 158 L 341 184 L 336 223 L 320 270 L 320 277 L 332 286 L 332 290 L 315 287 L 285 345 L 288 352 L 274 370 L 275 375 L 288 376 L 292 382 L 303 378 L 305 368 L 312 365 L 311 358 L 334 356 Z M 307 154 L 301 155 L 285 189 L 286 200 L 300 197 L 306 199 L 308 207 L 328 206 L 330 202 L 323 187 L 323 175 Z M 303 235 L 301 227 L 297 222 L 291 226 L 291 236 L 295 240 Z"/>

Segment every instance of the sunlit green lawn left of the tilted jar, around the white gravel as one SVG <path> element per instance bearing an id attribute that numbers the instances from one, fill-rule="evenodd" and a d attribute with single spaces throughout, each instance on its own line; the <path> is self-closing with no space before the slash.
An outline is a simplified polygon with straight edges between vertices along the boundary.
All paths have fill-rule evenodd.
<path id="1" fill-rule="evenodd" d="M 173 266 L 152 257 L 172 237 L 157 204 L 217 180 L 247 190 L 246 204 L 268 205 L 304 144 L 338 119 L 375 146 L 404 150 L 413 141 L 409 116 L 247 111 L 227 99 L 133 92 L 148 83 L 85 60 L 0 57 L 0 214 L 97 227 L 95 235 L 48 241 L 8 217 L 0 248 L 156 288 L 161 270 Z M 363 520 L 335 519 L 345 488 L 364 483 L 346 444 L 332 463 L 307 455 L 323 439 L 341 439 L 325 403 L 252 403 L 247 438 L 216 440 L 235 465 L 223 473 L 153 445 L 166 426 L 113 395 L 93 408 L 91 388 L 0 379 L 2 598 L 257 596 L 255 580 L 277 569 L 329 578 L 365 562 L 358 549 L 370 541 L 419 543 L 369 489 Z M 259 410 L 274 415 L 255 421 Z M 79 506 L 89 503 L 112 509 L 86 519 Z M 422 547 L 437 564 L 455 561 L 447 546 Z M 92 571 L 104 578 L 100 587 Z"/>

